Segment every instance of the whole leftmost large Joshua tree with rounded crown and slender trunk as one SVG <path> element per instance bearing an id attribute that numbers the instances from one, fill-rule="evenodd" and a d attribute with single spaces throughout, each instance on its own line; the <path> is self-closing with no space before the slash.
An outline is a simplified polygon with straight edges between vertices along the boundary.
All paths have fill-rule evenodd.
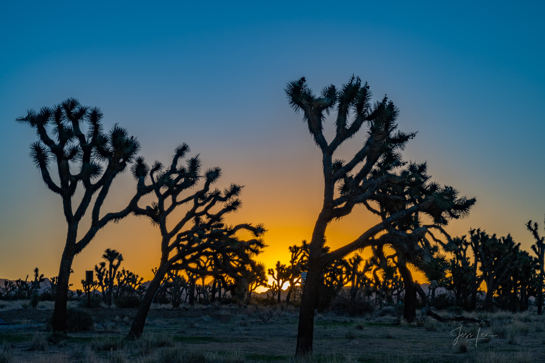
<path id="1" fill-rule="evenodd" d="M 38 112 L 29 110 L 25 117 L 17 119 L 34 128 L 38 135 L 38 141 L 31 145 L 31 158 L 47 188 L 62 199 L 68 225 L 57 280 L 53 331 L 66 330 L 66 300 L 74 256 L 101 228 L 128 216 L 131 206 L 136 205 L 143 191 L 138 190 L 123 210 L 100 217 L 113 180 L 134 160 L 140 149 L 138 141 L 124 128 L 114 125 L 107 134 L 102 132 L 101 119 L 100 109 L 82 106 L 75 99 L 65 100 L 52 108 L 43 107 Z M 56 162 L 59 183 L 50 174 L 52 161 Z M 72 169 L 76 169 L 75 173 Z M 80 183 L 83 196 L 74 205 L 74 195 Z M 89 229 L 78 239 L 78 226 L 91 205 Z"/>

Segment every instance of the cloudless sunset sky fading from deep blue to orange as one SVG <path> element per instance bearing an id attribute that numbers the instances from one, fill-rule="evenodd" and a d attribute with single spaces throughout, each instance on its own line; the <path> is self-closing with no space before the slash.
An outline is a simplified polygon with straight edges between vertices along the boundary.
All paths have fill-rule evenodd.
<path id="1" fill-rule="evenodd" d="M 284 84 L 305 76 L 319 90 L 353 73 L 397 104 L 402 130 L 419 132 L 405 157 L 477 197 L 452 235 L 470 226 L 511 232 L 529 249 L 524 223 L 545 213 L 544 10 L 541 2 L 3 4 L 0 277 L 35 266 L 57 274 L 65 235 L 60 201 L 28 158 L 33 132 L 14 121 L 27 109 L 67 97 L 101 107 L 108 127 L 128 128 L 150 161 L 185 141 L 205 165 L 223 168 L 225 183 L 246 185 L 238 218 L 269 227 L 270 263 L 308 238 L 320 204 L 319 151 Z M 112 208 L 132 188 L 126 175 L 116 183 Z M 328 241 L 342 243 L 367 222 L 356 213 L 343 223 Z M 136 225 L 114 227 L 114 239 L 104 232 L 77 258 L 141 249 L 148 242 L 127 231 Z"/>

